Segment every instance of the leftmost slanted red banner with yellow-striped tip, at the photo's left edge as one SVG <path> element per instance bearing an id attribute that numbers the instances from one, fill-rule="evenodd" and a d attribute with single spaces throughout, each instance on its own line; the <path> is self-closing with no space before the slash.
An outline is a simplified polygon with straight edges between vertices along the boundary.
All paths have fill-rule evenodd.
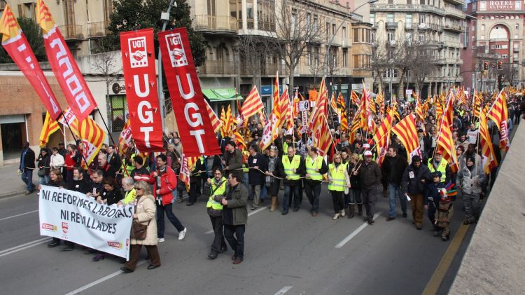
<path id="1" fill-rule="evenodd" d="M 62 109 L 9 6 L 6 6 L 0 19 L 0 34 L 2 34 L 3 48 L 20 68 L 36 95 L 40 97 L 50 117 L 56 121 L 62 114 Z"/>

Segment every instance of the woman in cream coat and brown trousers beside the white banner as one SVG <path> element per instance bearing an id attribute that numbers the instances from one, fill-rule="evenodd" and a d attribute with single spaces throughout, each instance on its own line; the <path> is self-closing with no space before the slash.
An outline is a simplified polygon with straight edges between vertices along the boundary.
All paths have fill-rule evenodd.
<path id="1" fill-rule="evenodd" d="M 140 222 L 148 225 L 146 230 L 146 238 L 144 240 L 130 239 L 130 261 L 127 261 L 123 267 L 120 268 L 124 273 L 133 273 L 137 262 L 139 262 L 139 255 L 141 248 L 144 245 L 148 256 L 150 257 L 150 265 L 148 269 L 158 268 L 160 266 L 160 255 L 157 248 L 157 223 L 155 222 L 155 198 L 151 194 L 151 188 L 145 181 L 137 181 L 134 185 L 137 191 L 137 206 L 133 214 L 133 222 Z M 151 222 L 153 221 L 153 222 Z"/>

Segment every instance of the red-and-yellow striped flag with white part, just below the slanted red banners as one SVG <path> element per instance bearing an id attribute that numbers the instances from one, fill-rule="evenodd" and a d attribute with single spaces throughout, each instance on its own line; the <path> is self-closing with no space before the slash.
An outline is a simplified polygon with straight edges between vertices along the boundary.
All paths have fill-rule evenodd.
<path id="1" fill-rule="evenodd" d="M 85 160 L 87 160 L 87 165 L 90 165 L 94 157 L 99 153 L 104 139 L 106 139 L 104 130 L 90 116 L 79 122 L 70 107 L 64 111 L 64 116 L 60 118 L 60 123 L 64 127 L 69 125 L 73 134 L 78 136 L 83 142 L 83 155 Z"/>

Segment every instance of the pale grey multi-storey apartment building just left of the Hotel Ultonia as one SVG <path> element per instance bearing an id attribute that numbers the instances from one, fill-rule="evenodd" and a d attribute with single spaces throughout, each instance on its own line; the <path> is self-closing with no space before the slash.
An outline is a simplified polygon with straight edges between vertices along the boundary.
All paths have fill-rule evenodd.
<path id="1" fill-rule="evenodd" d="M 432 73 L 420 86 L 421 97 L 435 95 L 446 90 L 451 83 L 461 83 L 462 36 L 465 31 L 464 0 L 379 0 L 370 5 L 370 23 L 374 31 L 374 46 L 393 50 L 407 43 L 424 43 L 430 50 Z M 388 49 L 391 48 L 391 49 Z M 400 69 L 385 69 L 381 78 L 374 77 L 377 88 L 379 80 L 385 81 L 387 97 L 403 98 L 407 90 L 414 89 L 414 77 L 408 71 L 404 83 L 400 83 Z M 389 87 L 390 85 L 391 87 Z"/>

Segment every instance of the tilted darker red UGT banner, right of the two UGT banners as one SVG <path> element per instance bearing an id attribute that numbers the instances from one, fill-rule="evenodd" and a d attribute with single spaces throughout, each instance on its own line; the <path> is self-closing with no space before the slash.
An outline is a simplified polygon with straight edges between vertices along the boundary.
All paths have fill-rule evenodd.
<path id="1" fill-rule="evenodd" d="M 160 32 L 158 39 L 169 95 L 174 107 L 182 111 L 176 113 L 175 118 L 184 154 L 194 157 L 221 153 L 202 96 L 186 28 Z"/>

